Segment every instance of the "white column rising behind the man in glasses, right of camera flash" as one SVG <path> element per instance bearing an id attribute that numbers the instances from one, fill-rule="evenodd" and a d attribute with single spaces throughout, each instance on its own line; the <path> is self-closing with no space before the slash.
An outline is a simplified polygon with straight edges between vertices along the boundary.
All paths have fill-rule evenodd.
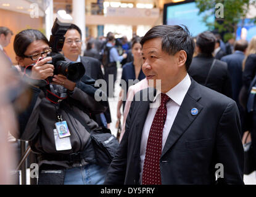
<path id="1" fill-rule="evenodd" d="M 83 50 L 85 49 L 85 0 L 73 0 L 72 17 L 73 23 L 82 31 Z"/>

